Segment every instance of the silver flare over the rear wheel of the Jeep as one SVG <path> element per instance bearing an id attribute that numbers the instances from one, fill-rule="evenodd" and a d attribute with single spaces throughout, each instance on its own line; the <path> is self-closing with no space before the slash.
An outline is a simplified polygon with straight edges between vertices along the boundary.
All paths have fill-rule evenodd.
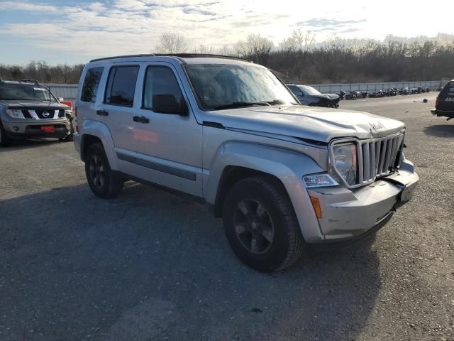
<path id="1" fill-rule="evenodd" d="M 99 121 L 92 121 L 89 119 L 84 120 L 82 124 L 81 144 L 80 151 L 82 156 L 82 151 L 84 151 L 84 140 L 87 135 L 96 136 L 99 138 L 104 146 L 104 151 L 106 151 L 107 159 L 109 160 L 109 165 L 114 171 L 118 171 L 117 158 L 114 153 L 114 140 L 112 139 L 111 132 L 106 124 Z"/>

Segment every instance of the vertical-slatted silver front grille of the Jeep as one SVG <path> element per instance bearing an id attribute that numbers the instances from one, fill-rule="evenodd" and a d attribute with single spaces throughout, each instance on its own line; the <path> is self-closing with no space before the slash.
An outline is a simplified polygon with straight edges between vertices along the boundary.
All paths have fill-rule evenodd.
<path id="1" fill-rule="evenodd" d="M 358 183 L 371 183 L 392 173 L 399 166 L 403 147 L 404 134 L 360 141 Z"/>

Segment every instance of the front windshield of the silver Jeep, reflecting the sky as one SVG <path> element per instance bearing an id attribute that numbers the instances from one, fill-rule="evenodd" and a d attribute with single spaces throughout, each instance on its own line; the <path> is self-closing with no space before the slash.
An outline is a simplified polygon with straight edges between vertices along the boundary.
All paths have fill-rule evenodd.
<path id="1" fill-rule="evenodd" d="M 185 67 L 202 109 L 297 104 L 289 90 L 264 67 L 238 64 Z"/>

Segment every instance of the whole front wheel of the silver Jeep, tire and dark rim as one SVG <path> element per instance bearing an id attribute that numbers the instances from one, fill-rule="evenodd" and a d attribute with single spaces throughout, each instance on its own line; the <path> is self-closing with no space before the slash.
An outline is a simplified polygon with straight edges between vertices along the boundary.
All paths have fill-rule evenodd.
<path id="1" fill-rule="evenodd" d="M 285 269 L 304 249 L 292 203 L 282 184 L 270 177 L 246 178 L 231 188 L 223 225 L 238 259 L 258 271 Z"/>

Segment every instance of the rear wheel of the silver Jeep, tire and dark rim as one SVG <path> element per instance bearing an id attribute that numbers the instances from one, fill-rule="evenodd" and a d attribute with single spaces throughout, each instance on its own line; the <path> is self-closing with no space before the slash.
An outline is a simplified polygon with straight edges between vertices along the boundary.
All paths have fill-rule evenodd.
<path id="1" fill-rule="evenodd" d="M 103 199 L 115 197 L 123 189 L 123 179 L 109 165 L 101 144 L 89 146 L 85 156 L 85 175 L 94 195 Z"/>

